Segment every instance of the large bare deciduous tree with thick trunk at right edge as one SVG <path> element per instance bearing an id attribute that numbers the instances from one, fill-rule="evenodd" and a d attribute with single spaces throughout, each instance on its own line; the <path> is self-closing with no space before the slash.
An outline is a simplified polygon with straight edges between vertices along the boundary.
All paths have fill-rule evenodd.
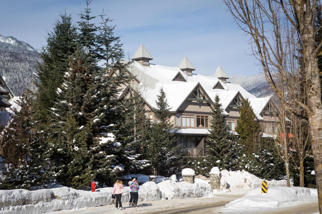
<path id="1" fill-rule="evenodd" d="M 322 212 L 322 74 L 318 68 L 318 54 L 322 41 L 316 44 L 316 34 L 322 26 L 316 27 L 315 15 L 318 0 L 224 0 L 228 10 L 239 27 L 251 36 L 253 54 L 263 68 L 266 79 L 275 91 L 281 104 L 297 118 L 307 121 L 310 127 L 311 144 L 318 190 L 319 209 Z M 297 50 L 301 60 L 301 75 L 306 86 L 307 100 L 298 99 L 292 90 L 292 79 L 289 78 L 289 59 L 285 49 L 289 31 L 297 32 Z M 278 72 L 283 80 L 274 79 L 273 73 Z M 284 81 L 288 99 L 297 103 L 305 115 L 298 114 L 285 100 L 284 92 L 279 90 L 279 81 Z"/>

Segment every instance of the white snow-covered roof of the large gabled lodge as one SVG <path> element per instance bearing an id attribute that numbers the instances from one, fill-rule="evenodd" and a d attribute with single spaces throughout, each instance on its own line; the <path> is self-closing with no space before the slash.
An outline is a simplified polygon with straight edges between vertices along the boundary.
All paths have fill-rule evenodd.
<path id="1" fill-rule="evenodd" d="M 223 83 L 216 76 L 200 74 L 188 76 L 176 66 L 156 65 L 152 63 L 150 63 L 149 66 L 143 66 L 139 62 L 133 61 L 128 67 L 128 71 L 132 73 L 133 76 L 136 76 L 137 80 L 140 82 L 137 85 L 131 86 L 141 92 L 142 97 L 153 108 L 156 108 L 156 99 L 159 94 L 159 89 L 163 87 L 163 90 L 167 95 L 171 112 L 176 112 L 197 86 L 200 86 L 205 95 L 208 96 L 208 99 L 212 102 L 214 102 L 214 98 L 218 94 L 224 110 L 229 107 L 237 94 L 240 94 L 244 99 L 259 99 L 247 92 L 237 83 Z M 186 82 L 173 81 L 178 73 L 181 74 Z M 223 89 L 214 88 L 214 85 L 219 81 L 223 86 Z M 257 107 L 253 108 L 256 109 Z M 224 114 L 228 115 L 226 111 L 224 111 Z"/>

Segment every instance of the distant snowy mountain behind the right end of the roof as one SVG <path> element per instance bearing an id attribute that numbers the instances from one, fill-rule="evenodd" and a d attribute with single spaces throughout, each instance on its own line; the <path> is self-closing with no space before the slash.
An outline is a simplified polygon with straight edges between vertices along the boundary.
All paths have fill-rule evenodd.
<path id="1" fill-rule="evenodd" d="M 238 83 L 246 91 L 255 95 L 256 97 L 265 97 L 273 94 L 273 91 L 270 89 L 270 85 L 268 84 L 264 74 L 262 73 L 253 76 L 230 76 L 227 81 Z"/>

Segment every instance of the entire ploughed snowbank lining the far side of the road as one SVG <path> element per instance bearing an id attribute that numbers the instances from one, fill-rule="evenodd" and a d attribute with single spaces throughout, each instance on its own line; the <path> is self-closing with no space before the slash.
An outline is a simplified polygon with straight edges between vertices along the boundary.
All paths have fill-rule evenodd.
<path id="1" fill-rule="evenodd" d="M 189 172 L 191 173 L 191 172 Z M 159 201 L 170 199 L 191 199 L 201 197 L 216 197 L 218 194 L 244 194 L 248 190 L 260 187 L 261 179 L 245 171 L 223 170 L 222 180 L 227 189 L 212 191 L 209 180 L 203 176 L 195 178 L 195 183 L 175 182 L 175 175 L 170 178 L 156 176 L 155 182 L 148 181 L 143 174 L 128 175 L 137 177 L 144 182 L 139 189 L 139 202 Z M 140 178 L 140 179 L 139 179 Z M 181 180 L 181 179 L 180 179 Z M 269 181 L 268 186 L 285 186 L 286 181 Z M 56 188 L 55 188 L 56 187 Z M 47 189 L 28 190 L 0 190 L 0 213 L 34 214 L 57 210 L 83 209 L 88 207 L 106 206 L 114 203 L 111 198 L 112 187 L 99 188 L 96 192 L 75 190 L 60 185 L 45 186 Z M 130 194 L 129 187 L 124 187 L 122 202 L 127 204 Z"/>

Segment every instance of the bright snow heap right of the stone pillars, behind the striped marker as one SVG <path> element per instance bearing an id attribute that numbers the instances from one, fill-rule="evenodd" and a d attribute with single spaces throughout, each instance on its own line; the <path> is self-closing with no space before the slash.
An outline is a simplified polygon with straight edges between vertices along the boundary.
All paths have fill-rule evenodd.
<path id="1" fill-rule="evenodd" d="M 225 180 L 227 181 L 227 187 L 230 188 L 232 192 L 238 189 L 247 191 L 247 190 L 261 187 L 262 179 L 244 170 L 242 171 L 222 170 L 221 174 L 222 176 L 225 177 Z M 281 181 L 271 180 L 271 181 L 268 181 L 267 185 L 268 187 L 287 186 L 287 183 L 286 183 L 286 180 L 281 180 Z M 291 182 L 291 186 L 293 186 L 292 182 Z"/>

